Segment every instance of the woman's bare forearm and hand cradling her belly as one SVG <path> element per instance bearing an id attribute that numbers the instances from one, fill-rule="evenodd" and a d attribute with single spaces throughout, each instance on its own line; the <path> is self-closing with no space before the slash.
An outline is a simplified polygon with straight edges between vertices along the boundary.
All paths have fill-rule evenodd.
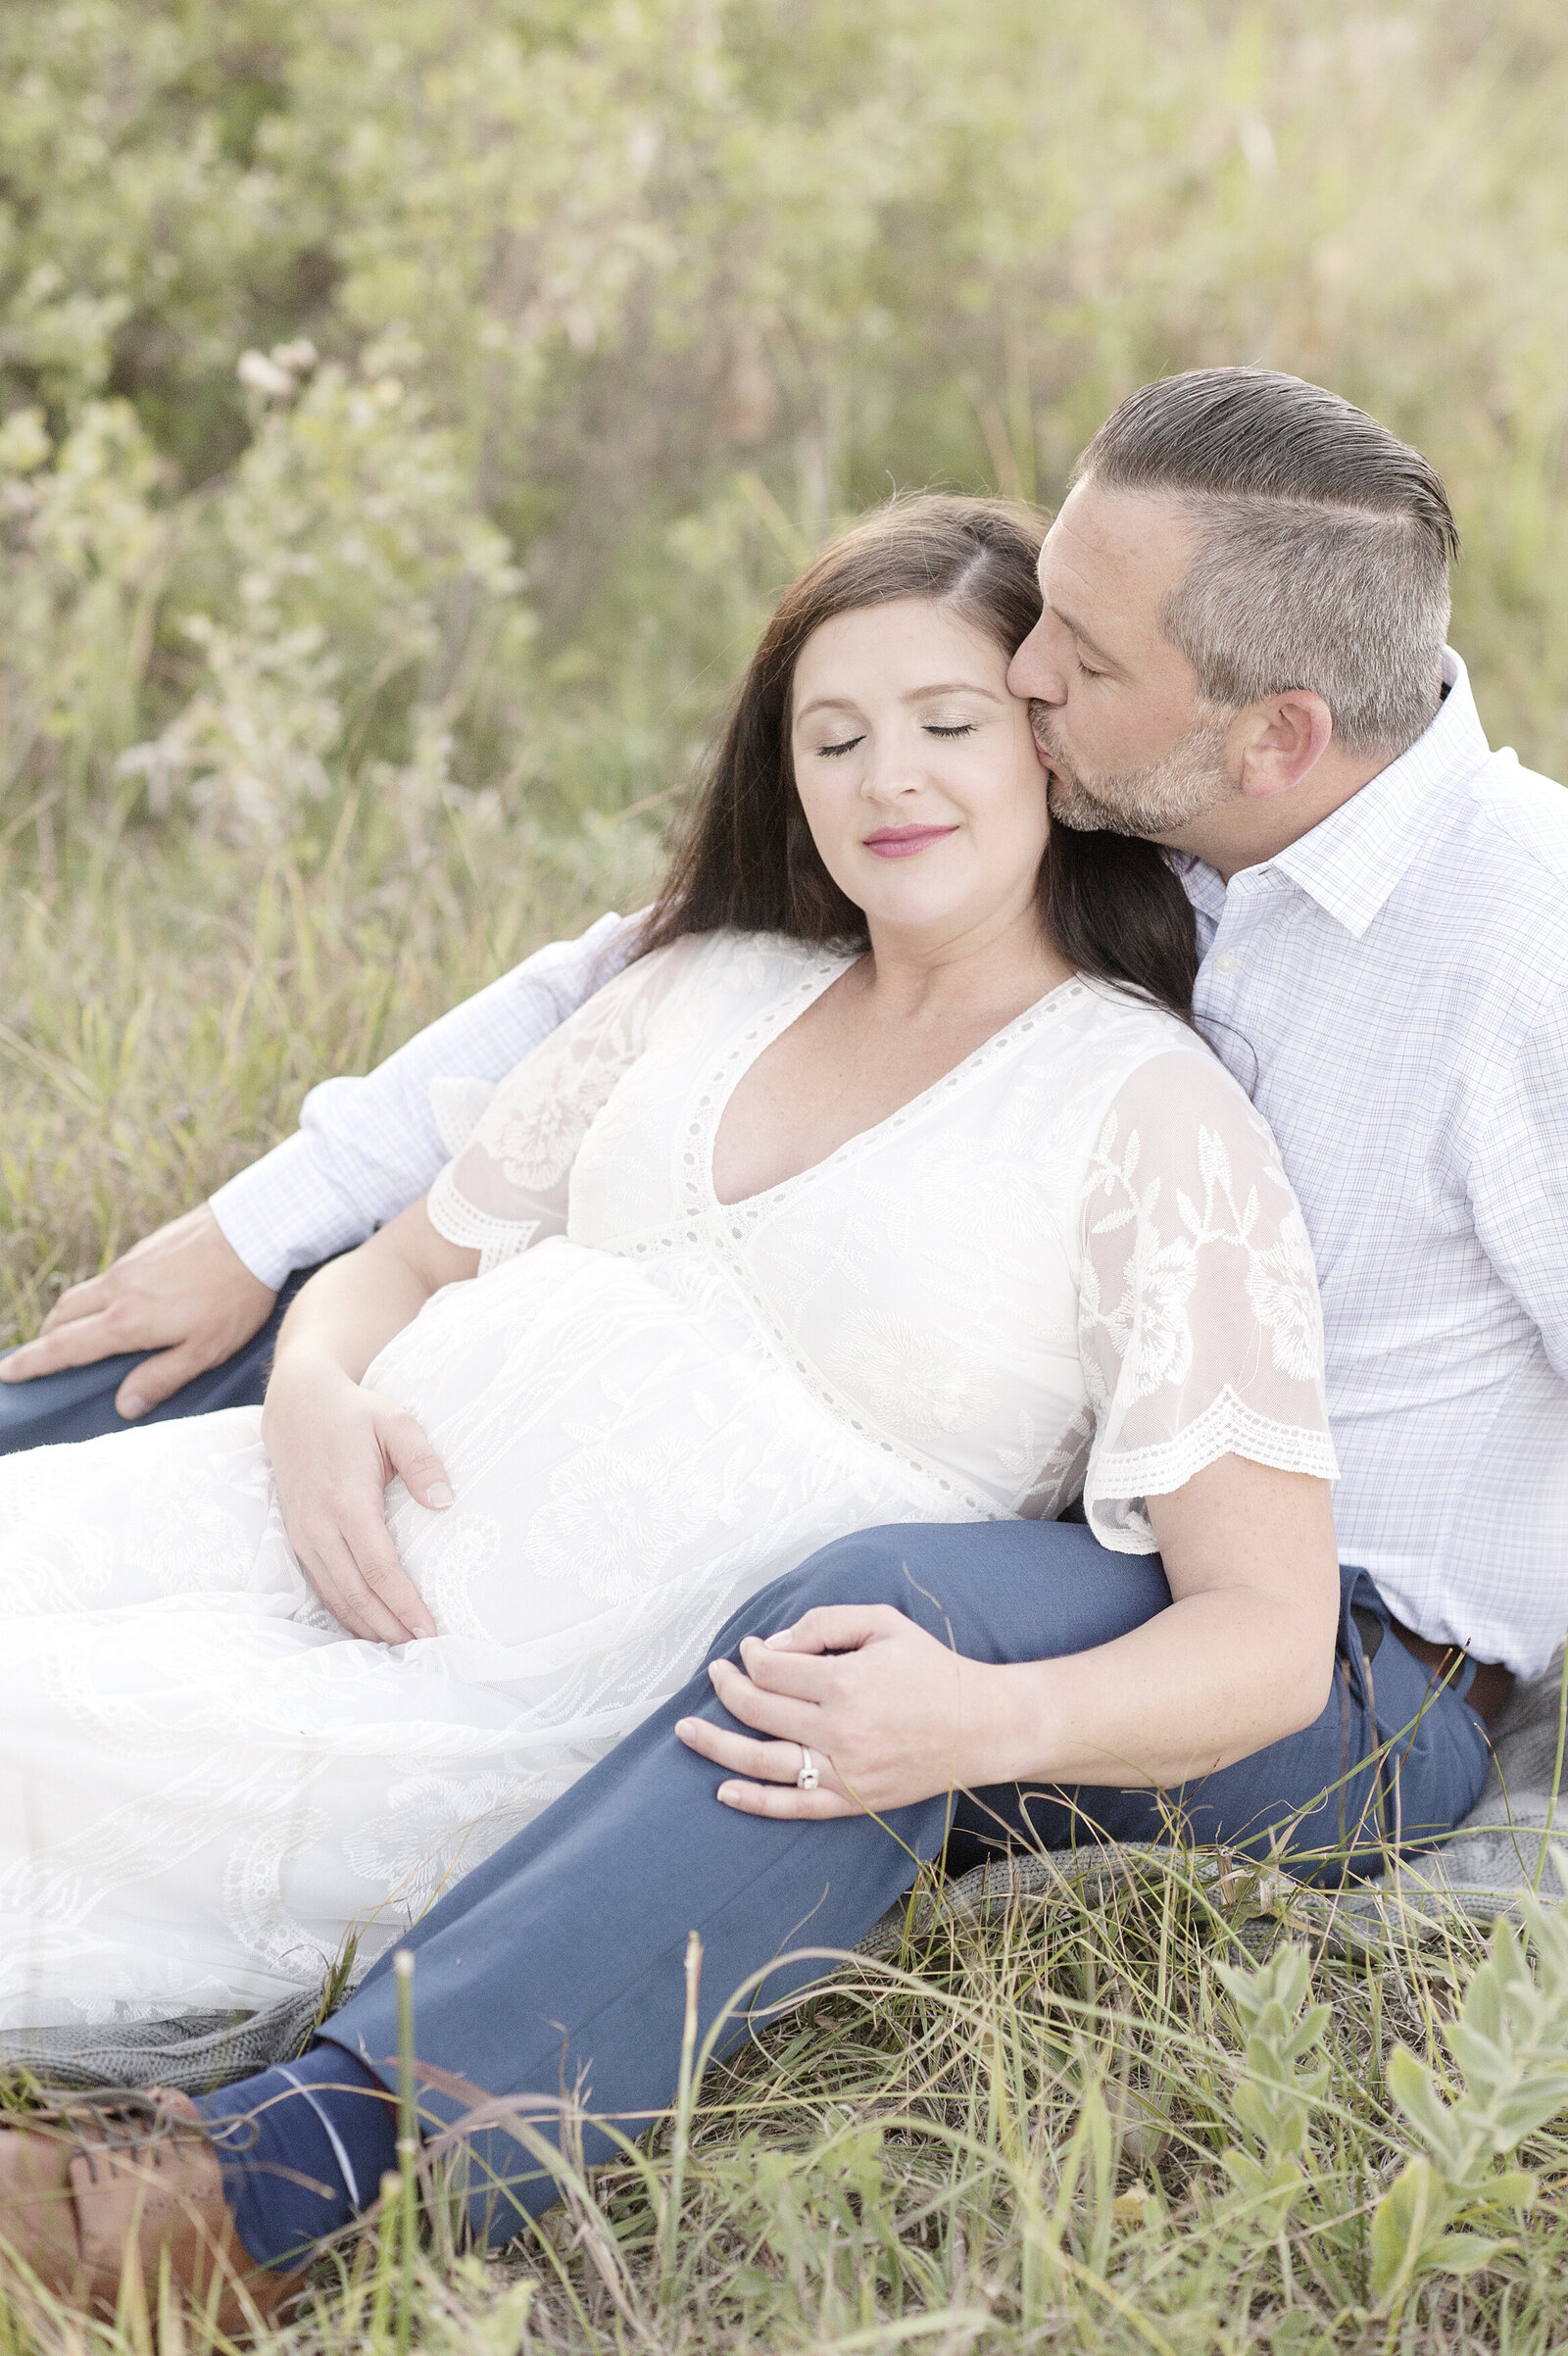
<path id="1" fill-rule="evenodd" d="M 386 1529 L 386 1484 L 400 1475 L 433 1513 L 452 1484 L 414 1418 L 360 1378 L 431 1293 L 476 1270 L 478 1251 L 438 1235 L 417 1202 L 311 1277 L 278 1333 L 261 1440 L 283 1527 L 332 1619 L 381 1644 L 436 1635 Z"/>

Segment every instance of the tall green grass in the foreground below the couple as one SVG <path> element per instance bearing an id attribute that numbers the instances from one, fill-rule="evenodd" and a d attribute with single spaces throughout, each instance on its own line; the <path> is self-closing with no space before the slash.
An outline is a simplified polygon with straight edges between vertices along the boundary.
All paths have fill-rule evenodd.
<path id="1" fill-rule="evenodd" d="M 1488 1958 L 1471 1927 L 1417 1939 L 1398 1915 L 1387 1951 L 1344 1955 L 1278 1878 L 1203 1852 L 913 1920 L 622 2160 L 584 2175 L 567 2132 L 563 2203 L 511 2250 L 464 2252 L 436 2205 L 405 2269 L 393 2203 L 268 2356 L 393 2356 L 403 2335 L 464 2356 L 1563 2344 L 1561 1932 L 1533 1977 L 1507 1941 Z M 1408 2184 L 1450 2179 L 1420 2120 L 1509 2102 L 1448 2241 L 1422 2241 Z M 134 2302 L 85 2328 L 14 2292 L 0 2321 L 7 2356 L 151 2344 Z M 165 2323 L 162 2344 L 207 2342 Z"/>

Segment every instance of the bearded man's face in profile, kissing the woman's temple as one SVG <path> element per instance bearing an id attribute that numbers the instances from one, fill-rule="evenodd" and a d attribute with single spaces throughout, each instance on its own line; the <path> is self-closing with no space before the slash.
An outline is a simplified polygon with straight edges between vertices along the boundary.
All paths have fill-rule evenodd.
<path id="1" fill-rule="evenodd" d="M 1198 695 L 1161 629 L 1187 573 L 1191 525 L 1154 492 L 1078 483 L 1041 549 L 1041 620 L 1008 686 L 1026 695 L 1050 815 L 1064 827 L 1172 839 L 1241 794 L 1227 766 L 1229 714 Z"/>

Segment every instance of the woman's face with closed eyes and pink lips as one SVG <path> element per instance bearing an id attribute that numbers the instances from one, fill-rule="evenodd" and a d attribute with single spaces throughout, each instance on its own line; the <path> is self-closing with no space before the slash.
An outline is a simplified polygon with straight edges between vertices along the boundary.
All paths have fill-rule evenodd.
<path id="1" fill-rule="evenodd" d="M 873 935 L 1034 916 L 1045 773 L 979 629 L 925 598 L 824 622 L 796 662 L 791 749 L 812 841 Z"/>

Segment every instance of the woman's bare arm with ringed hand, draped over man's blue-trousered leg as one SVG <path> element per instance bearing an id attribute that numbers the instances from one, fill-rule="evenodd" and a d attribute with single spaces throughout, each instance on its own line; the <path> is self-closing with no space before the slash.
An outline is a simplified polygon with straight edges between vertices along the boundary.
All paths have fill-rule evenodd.
<path id="1" fill-rule="evenodd" d="M 1328 1482 L 1222 1456 L 1149 1520 L 1172 1600 L 1109 1644 L 994 1666 L 890 1604 L 826 1607 L 713 1663 L 753 1734 L 687 1718 L 680 1739 L 730 1769 L 727 1807 L 850 1816 L 989 1783 L 1182 1783 L 1311 1725 L 1340 1604 Z M 800 1743 L 815 1793 L 793 1788 Z"/>

